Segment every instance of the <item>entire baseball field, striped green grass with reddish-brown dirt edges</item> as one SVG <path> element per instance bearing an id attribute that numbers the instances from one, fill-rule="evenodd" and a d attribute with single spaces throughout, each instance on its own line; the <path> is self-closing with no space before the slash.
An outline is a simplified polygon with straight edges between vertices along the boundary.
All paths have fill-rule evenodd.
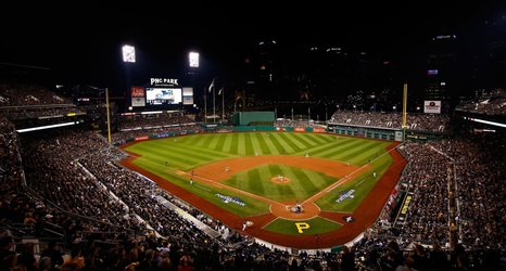
<path id="1" fill-rule="evenodd" d="M 331 248 L 378 218 L 406 165 L 399 144 L 330 133 L 198 133 L 128 143 L 122 164 L 232 230 L 284 247 Z"/>

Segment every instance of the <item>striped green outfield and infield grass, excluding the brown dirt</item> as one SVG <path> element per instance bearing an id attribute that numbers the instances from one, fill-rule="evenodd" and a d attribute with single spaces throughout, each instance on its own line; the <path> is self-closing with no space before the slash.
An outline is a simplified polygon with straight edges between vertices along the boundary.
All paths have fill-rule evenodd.
<path id="1" fill-rule="evenodd" d="M 360 198 L 380 179 L 392 163 L 384 147 L 391 142 L 362 138 L 337 137 L 328 133 L 300 132 L 231 132 L 203 133 L 184 137 L 142 141 L 126 150 L 139 154 L 134 163 L 161 178 L 184 189 L 190 190 L 206 201 L 216 204 L 240 217 L 268 212 L 269 204 L 241 195 L 245 205 L 225 203 L 216 194 L 233 196 L 228 190 L 215 188 L 206 183 L 190 185 L 187 176 L 174 170 L 191 171 L 202 165 L 220 159 L 258 155 L 298 155 L 311 153 L 312 157 L 350 163 L 362 167 L 374 160 L 372 168 L 346 184 L 340 185 L 332 193 L 327 193 L 316 204 L 321 210 L 353 211 Z M 167 170 L 165 163 L 167 162 Z M 372 171 L 377 177 L 372 177 Z M 291 179 L 290 185 L 275 185 L 271 182 L 258 182 L 271 176 L 281 175 Z M 311 181 L 309 181 L 311 180 Z M 287 165 L 263 165 L 250 170 L 232 175 L 223 184 L 251 194 L 262 195 L 276 202 L 301 201 L 318 193 L 339 181 L 334 177 L 309 169 L 294 168 Z M 337 203 L 341 193 L 354 190 L 357 201 Z"/>

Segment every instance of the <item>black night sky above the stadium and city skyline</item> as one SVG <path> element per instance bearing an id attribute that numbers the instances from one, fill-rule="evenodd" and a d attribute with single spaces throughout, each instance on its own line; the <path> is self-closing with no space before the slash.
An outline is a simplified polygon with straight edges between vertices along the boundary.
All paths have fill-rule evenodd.
<path id="1" fill-rule="evenodd" d="M 287 51 L 332 46 L 387 60 L 409 54 L 434 35 L 466 33 L 505 8 L 499 1 L 468 2 L 13 3 L 2 8 L 0 62 L 49 67 L 62 83 L 119 88 L 123 44 L 136 47 L 134 82 L 181 76 L 192 50 L 201 55 L 203 77 L 226 76 L 262 39 L 276 39 Z"/>

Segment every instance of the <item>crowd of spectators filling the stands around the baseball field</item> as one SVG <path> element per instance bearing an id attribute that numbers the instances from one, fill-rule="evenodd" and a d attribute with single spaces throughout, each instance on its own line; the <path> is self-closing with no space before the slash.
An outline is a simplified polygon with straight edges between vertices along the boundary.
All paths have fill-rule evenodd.
<path id="1" fill-rule="evenodd" d="M 447 129 L 447 116 L 412 117 L 408 126 L 417 130 Z M 189 118 L 167 120 L 125 121 L 125 127 L 141 129 L 117 132 L 113 142 L 199 129 Z M 400 115 L 384 113 L 332 115 L 332 121 L 358 126 L 400 128 Z M 269 248 L 227 229 L 123 168 L 117 162 L 125 154 L 99 133 L 67 128 L 18 134 L 4 117 L 0 121 L 0 215 L 2 228 L 27 224 L 35 236 L 43 235 L 49 225 L 63 229 L 61 244 L 68 257 L 60 270 L 395 270 L 399 266 L 420 271 L 502 270 L 504 140 L 499 133 L 463 133 L 403 143 L 400 152 L 408 164 L 392 193 L 392 202 L 401 204 L 401 197 L 410 197 L 403 221 L 396 220 L 399 212 L 393 208 L 383 210 L 378 222 L 384 223 L 375 223 L 362 238 L 346 244 L 342 254 L 322 249 L 316 255 L 290 255 L 288 249 Z M 195 221 L 217 234 L 211 236 Z M 457 242 L 451 229 L 456 229 Z M 0 236 L 0 243 L 9 245 L 13 237 L 22 237 L 15 231 L 12 235 Z M 23 251 L 30 259 L 29 248 L 18 249 L 18 255 Z M 4 257 L 0 264 L 10 262 L 5 270 L 14 270 L 18 264 L 10 260 L 11 256 Z M 47 266 L 47 257 L 40 260 Z M 41 270 L 40 266 L 31 268 Z"/>

